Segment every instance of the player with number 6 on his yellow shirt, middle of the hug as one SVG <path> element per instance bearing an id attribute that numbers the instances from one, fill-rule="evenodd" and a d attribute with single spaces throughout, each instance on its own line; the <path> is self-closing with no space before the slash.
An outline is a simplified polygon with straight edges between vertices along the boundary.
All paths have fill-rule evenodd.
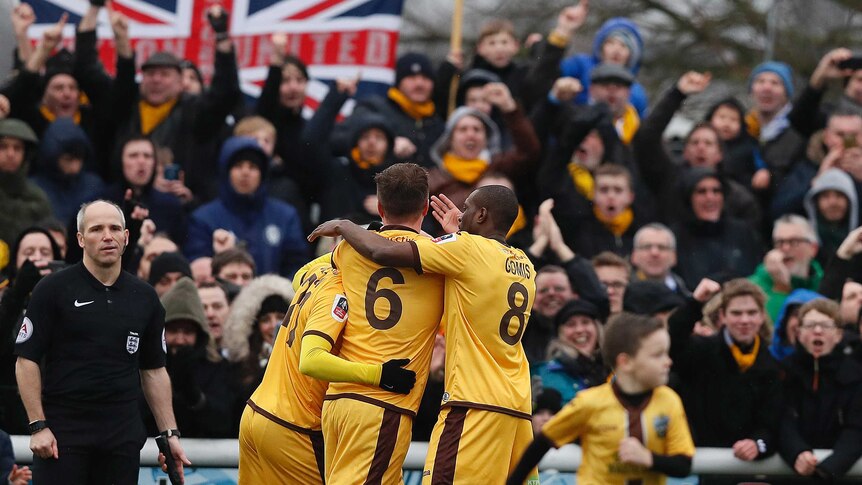
<path id="1" fill-rule="evenodd" d="M 419 235 L 428 211 L 425 169 L 393 165 L 375 177 L 378 234 L 392 241 L 428 239 Z M 363 229 L 364 231 L 364 229 Z M 341 243 L 332 254 L 350 301 L 350 321 L 318 320 L 303 337 L 300 368 L 330 381 L 323 404 L 326 482 L 338 485 L 402 483 L 413 417 L 428 379 L 431 351 L 443 315 L 443 278 L 413 269 L 381 267 Z M 330 353 L 341 342 L 338 357 Z M 383 363 L 387 359 L 398 360 Z M 381 382 L 381 388 L 343 383 L 334 374 L 340 360 L 377 364 L 377 375 L 352 376 Z M 405 366 L 401 369 L 398 364 Z M 405 372 L 411 374 L 405 384 Z M 418 392 L 408 394 L 413 373 Z M 398 394 L 398 393 L 403 394 Z"/>

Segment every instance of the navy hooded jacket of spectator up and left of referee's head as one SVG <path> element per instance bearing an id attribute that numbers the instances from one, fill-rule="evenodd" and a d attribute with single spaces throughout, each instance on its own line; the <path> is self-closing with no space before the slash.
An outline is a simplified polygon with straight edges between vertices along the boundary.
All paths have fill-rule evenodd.
<path id="1" fill-rule="evenodd" d="M 60 171 L 63 154 L 82 156 L 81 171 L 74 175 Z M 39 144 L 38 170 L 32 180 L 45 191 L 54 216 L 61 222 L 74 218 L 81 204 L 98 199 L 104 190 L 102 179 L 86 170 L 93 164 L 93 147 L 81 127 L 70 118 L 60 118 L 48 126 Z"/>

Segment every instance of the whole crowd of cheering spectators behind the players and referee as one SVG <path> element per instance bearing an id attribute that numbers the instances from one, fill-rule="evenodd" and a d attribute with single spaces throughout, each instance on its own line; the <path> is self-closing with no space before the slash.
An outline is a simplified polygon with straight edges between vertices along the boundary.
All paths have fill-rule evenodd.
<path id="1" fill-rule="evenodd" d="M 12 13 L 19 44 L 0 86 L 8 433 L 27 430 L 14 336 L 39 279 L 80 259 L 82 203 L 111 200 L 127 213 L 123 265 L 166 309 L 183 435 L 234 437 L 294 273 L 331 249 L 304 235 L 331 218 L 378 219 L 374 175 L 411 161 L 459 207 L 482 185 L 518 194 L 509 242 L 538 270 L 523 336 L 536 429 L 605 382 L 604 322 L 629 311 L 666 322 L 671 385 L 698 446 L 733 448 L 741 460 L 777 452 L 823 483 L 862 456 L 862 69 L 845 67 L 858 59 L 850 50 L 826 53 L 802 83 L 785 63 L 758 65 L 746 99 L 715 103 L 672 147 L 665 129 L 711 75 L 666 73 L 674 85 L 647 93 L 637 76 L 648 39 L 625 18 L 605 22 L 591 52 L 569 56 L 586 2 L 523 48 L 510 22 L 491 20 L 472 55 L 450 52 L 435 68 L 405 53 L 389 90 L 357 99 L 340 121 L 358 79 L 338 79 L 304 117 L 309 72 L 280 34 L 260 97 L 245 101 L 219 7 L 208 12 L 209 82 L 169 52 L 138 59 L 117 11 L 110 76 L 94 3 L 73 52 L 57 49 L 66 17 L 32 46 L 32 9 Z M 424 229 L 441 231 L 430 215 Z M 428 439 L 437 416 L 442 352 L 414 440 Z M 834 453 L 818 461 L 814 448 Z"/>

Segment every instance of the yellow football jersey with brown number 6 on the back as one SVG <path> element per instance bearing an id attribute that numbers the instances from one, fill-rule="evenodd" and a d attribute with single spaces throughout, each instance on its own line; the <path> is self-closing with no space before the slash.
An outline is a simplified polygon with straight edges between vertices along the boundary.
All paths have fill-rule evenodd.
<path id="1" fill-rule="evenodd" d="M 380 235 L 400 242 L 427 239 L 403 226 L 384 226 Z M 344 242 L 333 251 L 332 261 L 341 271 L 350 302 L 350 321 L 330 321 L 326 322 L 328 328 L 315 325 L 314 329 L 328 334 L 331 340 L 340 334 L 341 350 L 337 355 L 351 362 L 382 364 L 390 359 L 410 359 L 405 367 L 416 372 L 416 385 L 405 395 L 363 384 L 333 382 L 326 398 L 361 396 L 367 402 L 415 415 L 443 315 L 443 277 L 381 267 Z"/>

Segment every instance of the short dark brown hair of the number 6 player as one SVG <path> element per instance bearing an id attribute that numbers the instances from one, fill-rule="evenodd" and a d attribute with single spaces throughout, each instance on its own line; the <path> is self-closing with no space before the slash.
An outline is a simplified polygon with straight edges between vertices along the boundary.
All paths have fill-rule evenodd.
<path id="1" fill-rule="evenodd" d="M 428 171 L 415 163 L 396 163 L 374 176 L 377 198 L 387 216 L 419 215 L 428 202 Z"/>

